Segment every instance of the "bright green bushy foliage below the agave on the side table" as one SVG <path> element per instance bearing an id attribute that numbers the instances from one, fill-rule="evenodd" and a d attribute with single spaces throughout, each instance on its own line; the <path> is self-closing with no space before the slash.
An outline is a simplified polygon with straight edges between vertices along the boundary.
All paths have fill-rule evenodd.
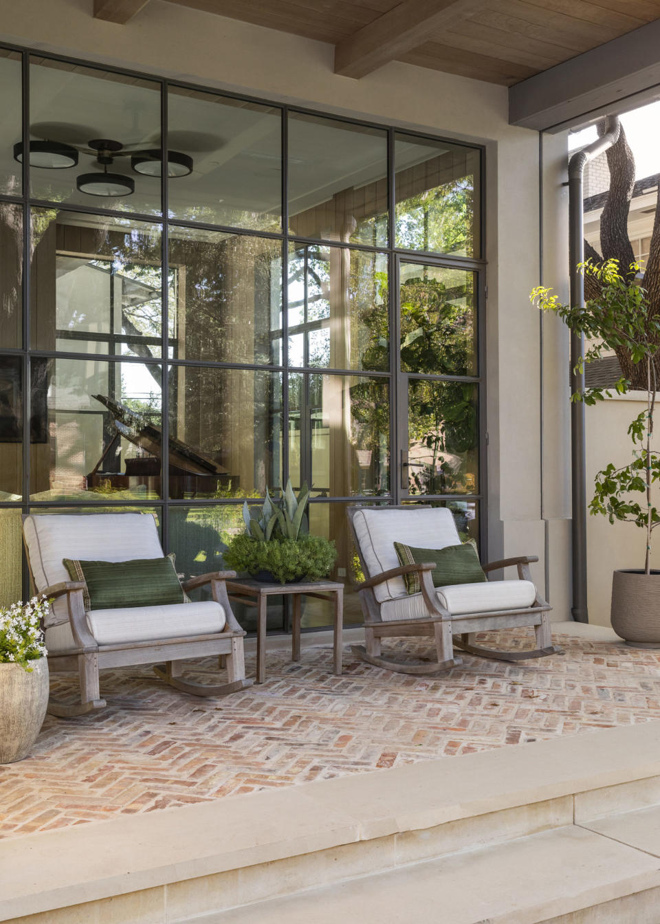
<path id="1" fill-rule="evenodd" d="M 270 571 L 280 584 L 309 577 L 326 577 L 336 561 L 334 541 L 322 536 L 301 536 L 297 540 L 260 541 L 242 533 L 229 543 L 224 554 L 226 565 L 253 577 Z"/>

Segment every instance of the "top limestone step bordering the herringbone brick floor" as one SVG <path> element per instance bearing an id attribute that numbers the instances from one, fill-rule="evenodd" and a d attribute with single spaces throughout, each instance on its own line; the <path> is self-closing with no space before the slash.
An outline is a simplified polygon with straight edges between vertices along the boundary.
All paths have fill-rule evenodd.
<path id="1" fill-rule="evenodd" d="M 568 796 L 542 825 L 552 827 L 567 823 L 571 800 L 573 812 L 595 817 L 599 799 L 601 813 L 616 811 L 621 798 L 620 809 L 652 804 L 659 789 L 652 722 L 120 816 L 0 841 L 0 920 L 145 891 L 165 902 L 165 890 L 183 894 L 192 880 L 245 877 L 284 859 L 295 868 L 297 857 L 327 850 L 371 851 L 385 869 L 406 840 L 451 822 L 483 826 L 488 815 Z"/>

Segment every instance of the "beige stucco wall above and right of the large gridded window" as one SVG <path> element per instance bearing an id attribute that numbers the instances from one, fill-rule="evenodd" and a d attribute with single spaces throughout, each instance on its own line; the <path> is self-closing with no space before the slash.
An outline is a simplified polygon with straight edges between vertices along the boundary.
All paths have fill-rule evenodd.
<path id="1" fill-rule="evenodd" d="M 490 557 L 538 555 L 569 618 L 566 338 L 528 298 L 542 279 L 566 295 L 566 136 L 546 137 L 542 160 L 538 134 L 508 125 L 503 87 L 397 62 L 338 77 L 331 45 L 159 0 L 127 26 L 92 18 L 92 0 L 0 0 L 0 37 L 486 145 Z"/>

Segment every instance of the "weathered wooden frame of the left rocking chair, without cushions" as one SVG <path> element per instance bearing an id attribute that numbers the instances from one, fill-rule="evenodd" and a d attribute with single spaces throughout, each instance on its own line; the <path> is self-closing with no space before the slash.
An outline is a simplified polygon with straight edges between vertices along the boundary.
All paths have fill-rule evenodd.
<path id="1" fill-rule="evenodd" d="M 25 519 L 25 516 L 23 517 Z M 26 545 L 26 553 L 27 545 Z M 28 566 L 34 587 L 30 554 Z M 126 667 L 134 664 L 150 664 L 165 659 L 164 664 L 154 666 L 154 673 L 171 687 L 193 696 L 226 696 L 250 687 L 251 680 L 245 677 L 243 638 L 245 632 L 238 625 L 226 592 L 226 581 L 236 577 L 235 571 L 212 571 L 198 577 L 191 577 L 182 586 L 187 592 L 207 584 L 215 602 L 225 611 L 225 628 L 213 635 L 179 636 L 158 641 L 131 641 L 114 645 L 99 645 L 87 624 L 82 591 L 85 585 L 78 581 L 61 581 L 51 587 L 37 589 L 49 600 L 67 597 L 68 619 L 76 647 L 48 655 L 48 667 L 53 673 L 78 673 L 80 678 L 80 702 L 64 703 L 48 700 L 48 712 L 62 718 L 83 715 L 85 712 L 103 709 L 99 671 L 104 667 Z M 225 656 L 227 682 L 204 685 L 183 679 L 183 662 L 193 658 Z"/>

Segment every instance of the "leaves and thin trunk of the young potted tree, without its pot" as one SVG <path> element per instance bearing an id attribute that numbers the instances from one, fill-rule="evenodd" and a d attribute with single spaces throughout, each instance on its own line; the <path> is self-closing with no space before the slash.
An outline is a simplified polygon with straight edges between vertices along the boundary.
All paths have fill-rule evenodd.
<path id="1" fill-rule="evenodd" d="M 655 405 L 655 354 L 660 346 L 660 321 L 642 286 L 630 278 L 640 267 L 631 263 L 629 275 L 619 271 L 617 260 L 600 264 L 591 261 L 580 264 L 581 273 L 591 275 L 600 284 L 598 298 L 589 298 L 584 306 L 562 305 L 552 289 L 538 286 L 531 299 L 538 308 L 551 311 L 564 321 L 571 331 L 595 341 L 581 357 L 576 371 L 585 364 L 601 359 L 605 350 L 625 351 L 634 365 L 642 364 L 646 373 L 647 407 L 630 422 L 628 433 L 632 441 L 632 462 L 616 468 L 612 463 L 598 472 L 589 510 L 607 517 L 610 523 L 622 520 L 646 530 L 646 571 L 650 567 L 651 535 L 660 523 L 660 515 L 652 503 L 651 489 L 660 479 L 660 456 L 652 452 Z M 629 392 L 630 383 L 621 377 L 614 386 L 618 395 Z M 588 388 L 571 395 L 571 401 L 594 405 L 611 397 L 607 388 Z M 638 444 L 642 448 L 637 448 Z M 642 493 L 644 503 L 634 499 Z"/>

